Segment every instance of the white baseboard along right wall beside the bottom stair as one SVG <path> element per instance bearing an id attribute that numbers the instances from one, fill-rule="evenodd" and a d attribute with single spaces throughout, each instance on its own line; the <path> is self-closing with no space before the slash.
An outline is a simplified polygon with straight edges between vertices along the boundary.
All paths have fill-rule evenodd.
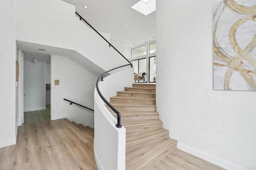
<path id="1" fill-rule="evenodd" d="M 178 142 L 178 144 L 177 144 L 177 148 L 178 148 L 179 150 L 182 150 L 182 151 L 184 151 L 184 152 L 187 152 L 187 153 L 189 153 L 189 154 L 192 154 L 192 155 L 194 155 L 194 156 L 196 156 L 196 157 L 198 157 L 198 158 L 201 158 L 201 159 L 203 159 L 203 160 L 206 160 L 206 161 L 208 161 L 208 162 L 211 162 L 212 164 L 218 165 L 218 166 L 220 166 L 220 167 L 222 167 L 222 168 L 225 168 L 225 169 L 227 169 L 227 170 L 245 170 L 245 168 L 242 168 L 242 167 L 240 167 L 240 166 L 234 165 L 234 164 L 232 164 L 232 163 L 230 163 L 230 162 L 227 162 L 227 161 L 225 161 L 225 160 L 221 160 L 221 159 L 219 159 L 219 158 L 216 158 L 216 157 L 214 157 L 214 156 L 211 156 L 211 155 L 209 155 L 209 154 L 206 154 L 206 153 L 201 152 L 201 151 L 199 151 L 199 150 L 196 150 L 196 149 L 194 149 L 194 148 L 190 148 L 190 147 L 188 147 L 188 146 L 185 146 L 185 145 L 183 145 L 183 144 L 180 144 L 179 142 Z"/>

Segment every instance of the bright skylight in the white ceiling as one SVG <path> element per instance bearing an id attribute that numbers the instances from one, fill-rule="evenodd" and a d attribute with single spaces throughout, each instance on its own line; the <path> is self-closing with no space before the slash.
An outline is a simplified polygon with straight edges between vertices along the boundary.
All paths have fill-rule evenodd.
<path id="1" fill-rule="evenodd" d="M 156 0 L 140 0 L 132 6 L 132 9 L 147 16 L 148 14 L 156 11 Z"/>

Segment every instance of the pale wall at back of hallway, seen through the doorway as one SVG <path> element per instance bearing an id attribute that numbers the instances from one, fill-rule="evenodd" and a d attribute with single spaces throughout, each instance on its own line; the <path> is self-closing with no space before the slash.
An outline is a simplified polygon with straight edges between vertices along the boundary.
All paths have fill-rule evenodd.
<path id="1" fill-rule="evenodd" d="M 46 109 L 45 65 L 24 60 L 24 112 Z"/>

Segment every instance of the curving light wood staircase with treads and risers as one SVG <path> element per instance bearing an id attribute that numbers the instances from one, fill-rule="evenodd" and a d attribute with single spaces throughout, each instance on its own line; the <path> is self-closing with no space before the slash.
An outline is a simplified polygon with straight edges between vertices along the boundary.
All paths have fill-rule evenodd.
<path id="1" fill-rule="evenodd" d="M 126 169 L 148 169 L 176 149 L 156 112 L 156 85 L 133 84 L 110 97 L 126 128 Z M 108 106 L 108 110 L 116 117 Z"/>

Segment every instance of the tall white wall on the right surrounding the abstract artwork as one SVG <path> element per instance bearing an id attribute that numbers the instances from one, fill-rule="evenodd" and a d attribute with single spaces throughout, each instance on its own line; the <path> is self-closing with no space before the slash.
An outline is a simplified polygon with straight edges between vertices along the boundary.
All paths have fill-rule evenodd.
<path id="1" fill-rule="evenodd" d="M 157 111 L 181 150 L 227 169 L 256 169 L 256 93 L 213 90 L 219 2 L 156 2 Z"/>

